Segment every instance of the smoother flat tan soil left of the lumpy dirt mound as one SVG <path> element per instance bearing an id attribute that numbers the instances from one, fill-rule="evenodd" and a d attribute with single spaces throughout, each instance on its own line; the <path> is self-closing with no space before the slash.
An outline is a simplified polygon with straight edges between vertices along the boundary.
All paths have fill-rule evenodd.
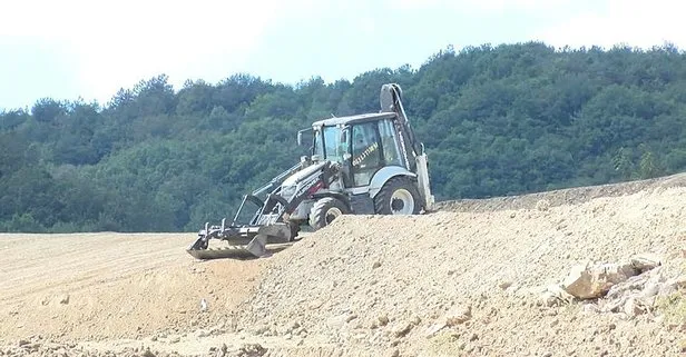
<path id="1" fill-rule="evenodd" d="M 1 338 L 139 338 L 219 323 L 247 298 L 266 261 L 197 261 L 185 251 L 193 239 L 0 235 Z M 200 314 L 203 299 L 208 313 Z"/>

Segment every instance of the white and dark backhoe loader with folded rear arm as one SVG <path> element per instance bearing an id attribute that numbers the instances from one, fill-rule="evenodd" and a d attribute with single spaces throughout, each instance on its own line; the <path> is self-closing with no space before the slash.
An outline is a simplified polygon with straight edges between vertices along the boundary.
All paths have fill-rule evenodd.
<path id="1" fill-rule="evenodd" d="M 303 226 L 321 229 L 341 215 L 418 215 L 431 210 L 427 153 L 396 83 L 381 88 L 381 111 L 315 121 L 311 155 L 245 195 L 229 225 L 205 227 L 187 251 L 198 259 L 265 257 L 292 244 Z M 255 208 L 242 219 L 248 205 Z M 209 248 L 210 239 L 228 242 Z M 267 245 L 275 249 L 267 249 Z M 280 248 L 282 247 L 282 248 Z"/>

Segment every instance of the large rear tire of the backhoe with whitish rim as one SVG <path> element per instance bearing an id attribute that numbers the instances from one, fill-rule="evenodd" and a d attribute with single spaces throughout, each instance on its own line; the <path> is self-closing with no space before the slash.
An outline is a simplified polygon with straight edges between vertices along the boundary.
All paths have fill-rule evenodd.
<path id="1" fill-rule="evenodd" d="M 419 215 L 421 209 L 416 184 L 405 176 L 388 180 L 374 197 L 376 215 Z"/>

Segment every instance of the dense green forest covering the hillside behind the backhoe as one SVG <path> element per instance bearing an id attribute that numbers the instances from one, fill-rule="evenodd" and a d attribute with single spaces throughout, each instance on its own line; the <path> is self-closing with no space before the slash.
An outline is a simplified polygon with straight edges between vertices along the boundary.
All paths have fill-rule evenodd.
<path id="1" fill-rule="evenodd" d="M 306 155 L 314 120 L 379 111 L 398 82 L 437 200 L 520 195 L 686 170 L 686 56 L 546 43 L 448 47 L 419 68 L 283 85 L 165 75 L 107 103 L 0 111 L 0 231 L 197 231 Z"/>

